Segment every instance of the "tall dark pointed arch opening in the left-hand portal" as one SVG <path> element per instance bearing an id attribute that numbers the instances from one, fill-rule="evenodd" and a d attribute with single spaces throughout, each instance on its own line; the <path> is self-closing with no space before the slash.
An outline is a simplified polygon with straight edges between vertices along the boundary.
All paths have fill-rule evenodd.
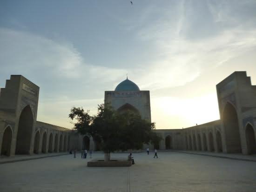
<path id="1" fill-rule="evenodd" d="M 30 106 L 20 113 L 15 154 L 29 154 L 33 130 L 33 114 Z"/>

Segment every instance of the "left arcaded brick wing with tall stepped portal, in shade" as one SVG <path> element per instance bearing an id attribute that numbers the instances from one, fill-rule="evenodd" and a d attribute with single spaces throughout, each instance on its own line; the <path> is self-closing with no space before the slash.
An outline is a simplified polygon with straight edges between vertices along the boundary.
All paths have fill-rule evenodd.
<path id="1" fill-rule="evenodd" d="M 89 147 L 89 137 L 37 121 L 38 98 L 39 86 L 22 75 L 11 75 L 5 88 L 0 89 L 1 155 L 66 152 Z"/>

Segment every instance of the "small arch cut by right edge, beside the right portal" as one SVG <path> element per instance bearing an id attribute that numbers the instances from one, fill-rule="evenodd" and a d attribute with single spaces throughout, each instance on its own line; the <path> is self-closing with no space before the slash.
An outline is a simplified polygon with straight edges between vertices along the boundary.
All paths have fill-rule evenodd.
<path id="1" fill-rule="evenodd" d="M 253 127 L 250 124 L 247 124 L 245 127 L 245 135 L 246 135 L 246 144 L 248 148 L 248 154 L 256 153 L 256 139 L 255 132 Z"/>

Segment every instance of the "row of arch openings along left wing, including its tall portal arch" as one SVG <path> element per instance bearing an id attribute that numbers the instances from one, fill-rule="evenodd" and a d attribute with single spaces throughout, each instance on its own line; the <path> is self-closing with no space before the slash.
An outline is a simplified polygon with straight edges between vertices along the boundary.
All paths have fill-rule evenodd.
<path id="1" fill-rule="evenodd" d="M 15 154 L 30 154 L 30 151 L 47 153 L 69 150 L 70 134 L 68 132 L 43 127 L 36 127 L 34 130 L 33 118 L 31 107 L 25 106 L 20 113 L 17 133 L 13 132 L 11 125 L 3 129 L 0 134 L 2 136 L 0 155 L 11 156 L 12 149 Z"/>

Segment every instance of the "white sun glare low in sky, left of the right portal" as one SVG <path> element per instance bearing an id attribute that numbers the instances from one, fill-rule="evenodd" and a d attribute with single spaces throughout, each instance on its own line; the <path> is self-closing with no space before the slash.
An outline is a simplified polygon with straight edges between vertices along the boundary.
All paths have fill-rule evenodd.
<path id="1" fill-rule="evenodd" d="M 219 119 L 217 96 L 214 93 L 196 98 L 159 97 L 154 99 L 153 111 L 162 111 L 165 119 L 176 119 L 172 128 L 195 126 Z M 179 119 L 179 120 L 178 120 Z M 166 127 L 164 121 L 157 127 Z M 167 128 L 167 127 L 166 127 Z"/>

